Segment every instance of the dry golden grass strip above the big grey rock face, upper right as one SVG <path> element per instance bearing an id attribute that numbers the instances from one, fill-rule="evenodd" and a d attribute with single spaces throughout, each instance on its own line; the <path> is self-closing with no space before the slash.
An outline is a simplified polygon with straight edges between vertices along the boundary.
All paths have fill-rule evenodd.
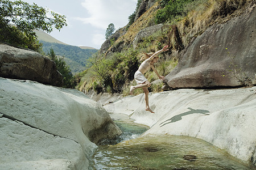
<path id="1" fill-rule="evenodd" d="M 224 23 L 240 15 L 253 0 L 208 0 L 200 3 L 183 18 L 177 27 L 187 46 L 192 37 L 200 35 L 214 23 Z"/>

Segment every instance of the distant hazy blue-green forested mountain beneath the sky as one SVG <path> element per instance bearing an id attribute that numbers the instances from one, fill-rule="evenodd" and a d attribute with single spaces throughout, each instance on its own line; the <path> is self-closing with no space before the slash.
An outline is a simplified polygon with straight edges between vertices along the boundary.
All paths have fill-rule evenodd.
<path id="1" fill-rule="evenodd" d="M 88 46 L 73 46 L 65 44 L 44 31 L 35 31 L 38 40 L 43 44 L 43 51 L 47 54 L 52 48 L 57 56 L 65 57 L 73 74 L 80 73 L 86 69 L 86 60 L 98 50 Z"/>

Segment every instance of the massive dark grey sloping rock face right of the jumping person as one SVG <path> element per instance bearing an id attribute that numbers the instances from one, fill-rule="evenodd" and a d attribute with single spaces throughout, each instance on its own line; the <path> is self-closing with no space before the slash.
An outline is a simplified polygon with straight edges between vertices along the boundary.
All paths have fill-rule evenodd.
<path id="1" fill-rule="evenodd" d="M 213 24 L 181 52 L 178 65 L 166 76 L 168 88 L 236 87 L 256 73 L 256 10 L 224 24 Z M 228 71 L 233 70 L 233 71 Z M 236 74 L 237 78 L 232 76 Z"/>

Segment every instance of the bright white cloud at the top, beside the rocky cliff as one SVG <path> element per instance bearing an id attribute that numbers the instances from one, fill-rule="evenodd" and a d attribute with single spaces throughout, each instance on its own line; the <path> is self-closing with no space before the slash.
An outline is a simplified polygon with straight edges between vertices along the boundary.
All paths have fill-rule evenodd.
<path id="1" fill-rule="evenodd" d="M 84 0 L 81 5 L 86 9 L 89 17 L 76 19 L 105 30 L 110 23 L 113 23 L 116 29 L 125 26 L 128 23 L 128 16 L 135 10 L 136 2 L 135 0 Z"/>

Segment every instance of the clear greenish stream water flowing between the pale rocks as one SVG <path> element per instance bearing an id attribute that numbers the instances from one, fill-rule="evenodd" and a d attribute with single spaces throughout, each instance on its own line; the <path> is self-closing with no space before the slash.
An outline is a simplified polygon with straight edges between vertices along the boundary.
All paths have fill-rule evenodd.
<path id="1" fill-rule="evenodd" d="M 115 124 L 123 134 L 102 141 L 94 155 L 95 169 L 256 169 L 201 139 L 139 137 L 147 126 L 117 120 Z"/>

